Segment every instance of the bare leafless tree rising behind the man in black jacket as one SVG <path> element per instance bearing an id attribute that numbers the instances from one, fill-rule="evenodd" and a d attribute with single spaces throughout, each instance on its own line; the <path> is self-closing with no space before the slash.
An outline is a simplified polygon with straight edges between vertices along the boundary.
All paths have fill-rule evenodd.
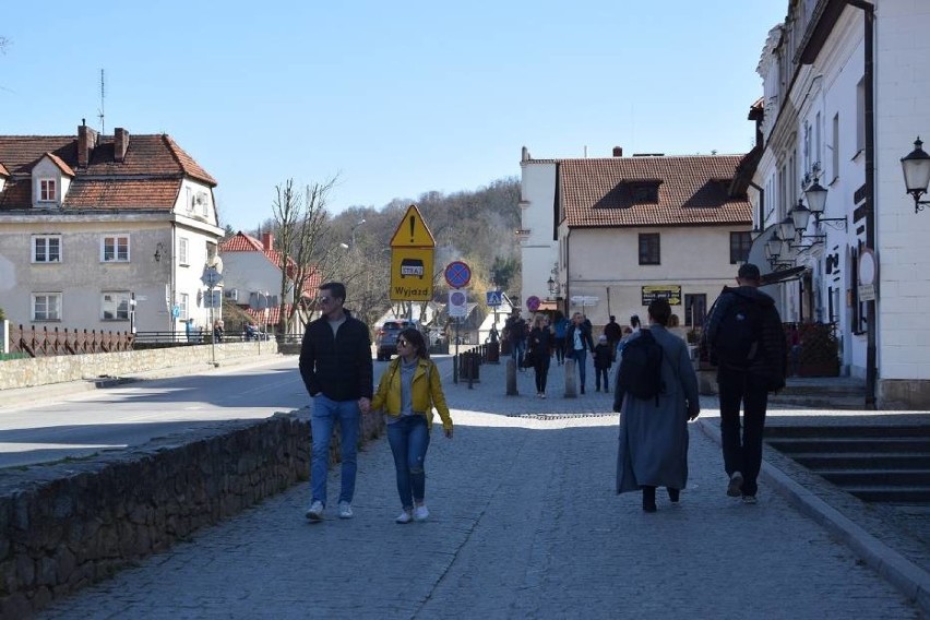
<path id="1" fill-rule="evenodd" d="M 332 248 L 326 243 L 325 231 L 329 224 L 326 199 L 336 178 L 321 183 L 311 183 L 306 188 L 306 198 L 295 191 L 294 179 L 284 186 L 275 186 L 276 198 L 272 205 L 275 228 L 277 228 L 277 250 L 281 264 L 281 313 L 278 327 L 282 334 L 288 334 L 294 315 L 303 308 L 301 296 L 303 287 L 317 274 L 329 271 Z M 288 294 L 294 294 L 294 303 L 287 307 Z M 308 317 L 299 317 L 306 322 Z"/>

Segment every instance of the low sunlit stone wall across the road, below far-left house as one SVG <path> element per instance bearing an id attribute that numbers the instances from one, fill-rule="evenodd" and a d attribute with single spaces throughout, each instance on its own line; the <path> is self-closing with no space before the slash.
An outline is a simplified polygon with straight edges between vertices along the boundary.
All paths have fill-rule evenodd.
<path id="1" fill-rule="evenodd" d="M 0 390 L 100 377 L 124 377 L 178 366 L 208 365 L 213 362 L 214 353 L 216 363 L 223 365 L 224 361 L 243 357 L 277 355 L 278 349 L 274 341 L 253 341 L 217 344 L 215 351 L 212 345 L 188 345 L 122 353 L 10 359 L 0 362 Z"/>

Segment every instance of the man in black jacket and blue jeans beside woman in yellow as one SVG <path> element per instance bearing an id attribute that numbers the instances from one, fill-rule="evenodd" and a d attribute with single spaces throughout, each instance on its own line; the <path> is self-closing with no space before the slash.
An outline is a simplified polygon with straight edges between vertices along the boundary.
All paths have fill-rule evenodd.
<path id="1" fill-rule="evenodd" d="M 355 494 L 359 412 L 371 407 L 373 365 L 368 326 L 343 308 L 346 287 L 330 282 L 320 287 L 322 317 L 307 325 L 300 346 L 300 375 L 313 397 L 310 418 L 312 499 L 307 518 L 319 522 L 326 506 L 330 439 L 335 422 L 342 433 L 339 518 L 351 518 Z"/>

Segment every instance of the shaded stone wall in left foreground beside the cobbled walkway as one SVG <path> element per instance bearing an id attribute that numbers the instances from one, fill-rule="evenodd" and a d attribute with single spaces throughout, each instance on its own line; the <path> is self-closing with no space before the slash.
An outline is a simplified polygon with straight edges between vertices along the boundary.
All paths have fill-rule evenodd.
<path id="1" fill-rule="evenodd" d="M 362 416 L 362 442 L 383 430 L 382 416 Z M 338 458 L 338 432 L 330 458 Z M 309 463 L 303 410 L 187 429 L 121 453 L 4 470 L 0 618 L 26 618 L 307 480 Z"/>

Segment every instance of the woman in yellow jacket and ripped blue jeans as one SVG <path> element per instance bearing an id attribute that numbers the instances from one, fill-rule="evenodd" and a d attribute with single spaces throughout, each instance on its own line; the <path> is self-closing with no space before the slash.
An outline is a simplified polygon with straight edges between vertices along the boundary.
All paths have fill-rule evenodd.
<path id="1" fill-rule="evenodd" d="M 397 336 L 397 358 L 378 383 L 371 410 L 383 410 L 388 442 L 397 470 L 397 492 L 404 511 L 397 523 L 426 521 L 426 472 L 424 462 L 432 429 L 432 408 L 442 418 L 445 437 L 452 439 L 452 417 L 442 393 L 439 369 L 429 359 L 422 334 L 413 327 Z"/>

